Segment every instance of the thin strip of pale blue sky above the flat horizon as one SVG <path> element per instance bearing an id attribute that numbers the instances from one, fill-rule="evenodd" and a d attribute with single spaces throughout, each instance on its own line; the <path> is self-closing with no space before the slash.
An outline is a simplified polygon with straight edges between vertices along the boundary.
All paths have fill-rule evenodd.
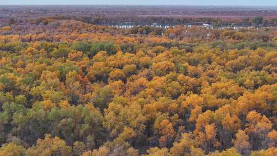
<path id="1" fill-rule="evenodd" d="M 277 6 L 277 0 L 0 0 L 0 5 L 243 5 Z"/>

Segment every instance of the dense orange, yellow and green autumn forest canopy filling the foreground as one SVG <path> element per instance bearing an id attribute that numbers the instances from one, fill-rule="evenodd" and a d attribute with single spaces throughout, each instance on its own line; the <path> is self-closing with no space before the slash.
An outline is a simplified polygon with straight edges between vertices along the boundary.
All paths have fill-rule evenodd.
<path id="1" fill-rule="evenodd" d="M 277 155 L 276 28 L 12 20 L 0 156 Z"/>

